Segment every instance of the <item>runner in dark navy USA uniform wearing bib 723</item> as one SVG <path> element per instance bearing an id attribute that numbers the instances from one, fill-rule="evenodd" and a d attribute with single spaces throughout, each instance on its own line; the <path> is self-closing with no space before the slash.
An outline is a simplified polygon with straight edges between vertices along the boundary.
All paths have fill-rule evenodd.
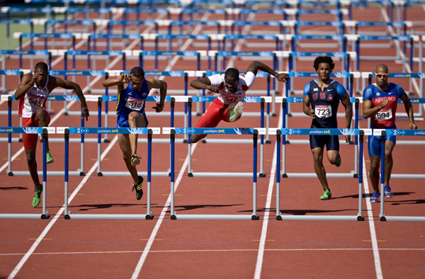
<path id="1" fill-rule="evenodd" d="M 312 129 L 337 128 L 336 113 L 338 112 L 339 101 L 346 110 L 346 125 L 351 127 L 351 103 L 344 86 L 337 81 L 330 79 L 332 70 L 335 67 L 334 61 L 329 56 L 319 56 L 314 59 L 313 64 L 318 79 L 314 79 L 305 84 L 304 96 L 302 97 L 302 110 L 309 115 L 312 121 Z M 310 104 L 312 108 L 310 109 Z M 346 142 L 350 142 L 351 136 L 344 135 Z M 314 171 L 320 183 L 322 183 L 324 193 L 321 200 L 329 200 L 332 197 L 331 190 L 326 178 L 326 171 L 323 166 L 323 151 L 326 145 L 327 157 L 331 164 L 341 166 L 341 155 L 339 154 L 339 139 L 337 135 L 310 135 L 310 148 L 314 158 Z"/>

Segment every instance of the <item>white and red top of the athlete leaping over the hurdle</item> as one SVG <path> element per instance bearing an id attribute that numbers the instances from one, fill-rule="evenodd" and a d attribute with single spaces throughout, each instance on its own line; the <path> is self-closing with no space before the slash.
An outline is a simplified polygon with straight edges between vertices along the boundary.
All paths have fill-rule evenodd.
<path id="1" fill-rule="evenodd" d="M 211 85 L 217 86 L 219 91 L 217 98 L 226 105 L 244 101 L 245 92 L 254 84 L 255 75 L 253 72 L 246 72 L 239 76 L 237 89 L 234 93 L 229 92 L 225 84 L 225 74 L 215 74 L 208 76 Z"/>

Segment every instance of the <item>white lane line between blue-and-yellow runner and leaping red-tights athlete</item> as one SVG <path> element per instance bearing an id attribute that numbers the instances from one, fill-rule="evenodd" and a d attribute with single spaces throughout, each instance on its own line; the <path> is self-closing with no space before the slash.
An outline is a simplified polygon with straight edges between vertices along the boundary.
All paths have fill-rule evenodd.
<path id="1" fill-rule="evenodd" d="M 195 151 L 196 146 L 198 146 L 198 143 L 192 144 L 191 154 L 193 154 L 193 152 Z M 177 187 L 179 187 L 179 183 L 181 181 L 181 178 L 183 177 L 183 173 L 184 173 L 186 167 L 188 166 L 188 161 L 189 161 L 188 158 L 189 158 L 189 154 L 188 154 L 188 156 L 186 156 L 186 159 L 184 160 L 183 166 L 181 166 L 179 177 L 177 178 L 176 183 L 174 183 L 174 193 L 176 193 Z M 162 209 L 162 213 L 158 218 L 157 224 L 155 224 L 154 230 L 152 231 L 152 234 L 149 237 L 149 240 L 147 241 L 145 249 L 143 250 L 142 256 L 140 256 L 139 262 L 137 263 L 137 266 L 136 266 L 135 271 L 133 272 L 133 274 L 131 276 L 131 279 L 137 279 L 137 277 L 139 277 L 140 271 L 142 271 L 143 263 L 145 263 L 145 261 L 146 261 L 147 254 L 149 253 L 149 250 L 150 250 L 152 244 L 154 243 L 154 239 L 157 236 L 159 227 L 161 226 L 162 221 L 164 220 L 166 210 L 168 209 L 170 203 L 171 203 L 171 195 L 169 195 L 168 199 L 166 200 L 164 208 Z"/>

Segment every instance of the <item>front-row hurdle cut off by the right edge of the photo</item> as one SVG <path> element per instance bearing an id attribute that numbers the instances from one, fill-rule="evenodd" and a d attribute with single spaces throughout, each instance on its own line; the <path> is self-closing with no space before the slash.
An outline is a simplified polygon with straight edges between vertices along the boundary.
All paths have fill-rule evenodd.
<path id="1" fill-rule="evenodd" d="M 390 129 L 365 129 L 365 135 L 381 136 L 381 174 L 380 193 L 383 193 L 385 175 L 385 136 L 425 136 L 425 130 L 390 130 Z M 393 178 L 391 174 L 391 178 Z M 399 174 L 395 178 L 425 178 L 425 174 Z M 401 177 L 399 177 L 401 176 Z M 404 221 L 404 222 L 425 222 L 425 217 L 414 216 L 385 216 L 384 214 L 385 194 L 380 195 L 380 221 Z"/>

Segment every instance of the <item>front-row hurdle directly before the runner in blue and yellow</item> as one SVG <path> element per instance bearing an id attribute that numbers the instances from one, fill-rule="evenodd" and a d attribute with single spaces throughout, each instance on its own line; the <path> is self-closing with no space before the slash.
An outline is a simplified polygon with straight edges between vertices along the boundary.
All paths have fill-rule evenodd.
<path id="1" fill-rule="evenodd" d="M 159 132 L 159 129 L 155 129 Z M 156 133 L 158 133 L 156 132 Z M 65 139 L 65 169 L 64 169 L 64 212 L 65 220 L 69 219 L 89 219 L 89 220 L 150 220 L 152 219 L 151 210 L 151 165 L 152 165 L 152 134 L 154 130 L 148 128 L 88 128 L 88 127 L 57 127 L 57 133 L 64 133 Z M 68 174 L 69 173 L 69 134 L 98 134 L 100 135 L 108 134 L 147 134 L 148 135 L 148 144 L 147 144 L 147 213 L 146 215 L 125 215 L 125 214 L 72 214 L 68 210 Z M 100 144 L 100 143 L 99 143 Z M 100 148 L 100 147 L 98 147 Z M 101 158 L 98 156 L 98 163 L 100 163 Z M 118 172 L 111 172 L 116 173 Z M 110 173 L 110 174 L 111 174 Z M 106 172 L 102 173 L 106 174 Z M 128 173 L 130 175 L 130 173 Z M 168 173 L 167 175 L 168 176 Z"/>

